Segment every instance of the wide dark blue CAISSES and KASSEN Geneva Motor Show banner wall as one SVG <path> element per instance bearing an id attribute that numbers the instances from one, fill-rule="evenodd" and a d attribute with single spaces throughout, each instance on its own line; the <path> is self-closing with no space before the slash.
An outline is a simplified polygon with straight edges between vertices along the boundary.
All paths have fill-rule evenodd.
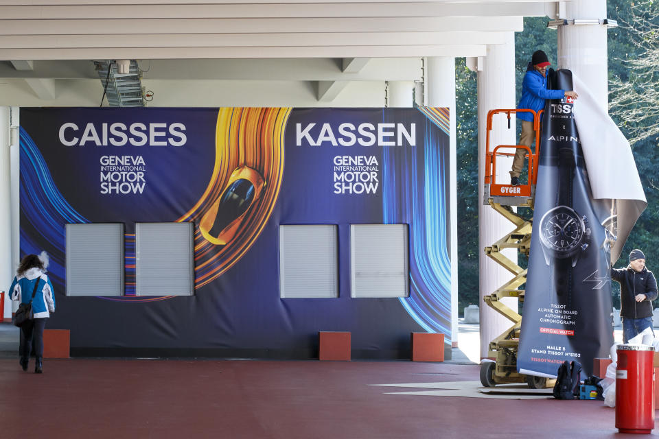
<path id="1" fill-rule="evenodd" d="M 446 108 L 21 108 L 21 257 L 46 250 L 73 355 L 408 357 L 450 346 Z M 240 187 L 250 181 L 253 187 Z M 222 194 L 254 189 L 240 217 Z M 236 214 L 237 215 L 237 214 Z M 231 215 L 229 215 L 231 216 Z M 124 224 L 125 294 L 67 297 L 65 224 Z M 135 224 L 194 223 L 194 296 L 137 296 Z M 227 233 L 227 224 L 234 224 Z M 338 298 L 279 292 L 279 226 L 335 224 Z M 350 225 L 407 224 L 409 294 L 351 298 Z"/>

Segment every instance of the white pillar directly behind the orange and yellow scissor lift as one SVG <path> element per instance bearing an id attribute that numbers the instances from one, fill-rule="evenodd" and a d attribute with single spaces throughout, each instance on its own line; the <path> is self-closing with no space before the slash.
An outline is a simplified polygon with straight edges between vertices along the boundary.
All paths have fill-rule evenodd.
<path id="1" fill-rule="evenodd" d="M 506 42 L 501 45 L 488 45 L 487 56 L 482 59 L 478 71 L 478 251 L 480 252 L 480 298 L 481 309 L 481 358 L 487 357 L 487 346 L 513 323 L 501 316 L 483 302 L 483 296 L 492 294 L 513 276 L 483 252 L 503 235 L 513 230 L 513 224 L 496 213 L 490 206 L 483 206 L 483 178 L 485 176 L 485 134 L 487 111 L 493 108 L 515 108 L 515 38 L 509 32 Z M 491 147 L 496 145 L 516 145 L 515 120 L 511 129 L 507 128 L 505 115 L 497 118 L 490 133 Z M 497 180 L 510 181 L 510 164 L 497 161 Z M 514 250 L 506 250 L 505 255 L 517 261 Z M 503 302 L 514 310 L 518 309 L 516 298 L 505 298 Z"/>

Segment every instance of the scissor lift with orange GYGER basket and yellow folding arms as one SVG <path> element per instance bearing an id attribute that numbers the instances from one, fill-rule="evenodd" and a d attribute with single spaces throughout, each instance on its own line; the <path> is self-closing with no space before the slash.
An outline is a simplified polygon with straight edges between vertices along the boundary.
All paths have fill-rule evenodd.
<path id="1" fill-rule="evenodd" d="M 494 150 L 489 149 L 489 134 L 492 131 L 492 119 L 495 115 L 505 114 L 510 128 L 511 114 L 517 112 L 531 112 L 533 115 L 533 129 L 535 130 L 535 152 L 525 145 L 498 145 Z M 495 292 L 483 299 L 485 303 L 502 316 L 510 320 L 513 325 L 489 343 L 487 357 L 494 361 L 481 364 L 481 383 L 487 387 L 494 387 L 503 383 L 528 383 L 531 388 L 545 388 L 553 385 L 554 380 L 530 375 L 521 375 L 517 372 L 517 353 L 520 344 L 520 328 L 522 316 L 505 305 L 501 299 L 516 297 L 524 302 L 524 290 L 519 289 L 527 281 L 527 270 L 511 261 L 501 251 L 505 248 L 516 248 L 518 252 L 529 256 L 531 247 L 532 219 L 526 219 L 510 208 L 510 206 L 526 206 L 533 209 L 535 200 L 535 184 L 537 182 L 537 163 L 540 153 L 540 115 L 533 110 L 498 109 L 487 113 L 487 134 L 485 141 L 485 186 L 483 204 L 492 206 L 492 209 L 503 215 L 515 225 L 515 229 L 496 241 L 492 246 L 485 247 L 485 254 L 496 263 L 511 272 L 514 277 L 501 285 Z M 512 186 L 496 181 L 496 158 L 514 156 L 518 148 L 527 150 L 528 180 L 526 185 Z"/>

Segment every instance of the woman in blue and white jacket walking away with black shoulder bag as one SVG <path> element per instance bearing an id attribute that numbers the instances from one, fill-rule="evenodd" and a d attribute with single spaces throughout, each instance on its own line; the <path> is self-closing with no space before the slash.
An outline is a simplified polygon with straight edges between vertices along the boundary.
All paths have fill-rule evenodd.
<path id="1" fill-rule="evenodd" d="M 36 352 L 36 365 L 34 373 L 43 371 L 43 330 L 46 327 L 46 321 L 51 313 L 55 312 L 55 294 L 53 284 L 45 274 L 47 266 L 47 254 L 43 252 L 41 258 L 36 254 L 28 254 L 23 258 L 19 269 L 16 270 L 16 277 L 9 289 L 12 300 L 21 303 L 32 301 L 32 312 L 34 319 L 32 323 L 21 327 L 21 368 L 27 370 L 27 364 L 30 361 L 30 351 L 32 350 L 32 340 L 34 338 L 34 348 Z M 34 298 L 32 293 L 34 292 Z"/>

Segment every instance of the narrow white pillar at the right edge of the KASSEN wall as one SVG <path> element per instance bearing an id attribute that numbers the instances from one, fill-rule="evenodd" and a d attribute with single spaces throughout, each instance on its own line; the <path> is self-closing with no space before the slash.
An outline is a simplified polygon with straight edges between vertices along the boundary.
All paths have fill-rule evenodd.
<path id="1" fill-rule="evenodd" d="M 426 102 L 430 107 L 448 107 L 450 115 L 450 258 L 451 258 L 451 340 L 458 345 L 458 204 L 455 128 L 455 58 L 441 57 L 426 60 Z"/>

